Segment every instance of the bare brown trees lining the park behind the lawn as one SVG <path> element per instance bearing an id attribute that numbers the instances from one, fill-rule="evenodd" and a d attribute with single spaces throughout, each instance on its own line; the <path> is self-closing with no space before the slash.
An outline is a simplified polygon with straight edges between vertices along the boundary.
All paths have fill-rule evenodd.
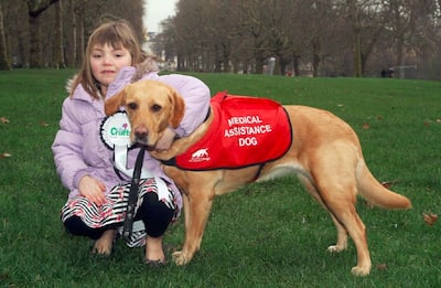
<path id="1" fill-rule="evenodd" d="M 90 31 L 123 18 L 165 70 L 440 79 L 440 0 L 2 0 L 0 68 L 78 67 Z"/>

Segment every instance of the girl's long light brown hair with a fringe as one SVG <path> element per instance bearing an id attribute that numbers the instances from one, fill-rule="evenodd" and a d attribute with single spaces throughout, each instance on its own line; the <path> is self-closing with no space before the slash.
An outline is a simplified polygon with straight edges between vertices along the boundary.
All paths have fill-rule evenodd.
<path id="1" fill-rule="evenodd" d="M 79 84 L 95 99 L 105 96 L 101 96 L 100 84 L 95 79 L 92 73 L 90 54 L 96 45 L 104 46 L 106 44 L 114 49 L 127 49 L 131 54 L 131 65 L 141 63 L 149 57 L 149 55 L 142 51 L 133 29 L 127 21 L 116 20 L 103 23 L 89 36 L 82 67 L 73 79 L 72 85 L 69 85 L 71 96 Z"/>

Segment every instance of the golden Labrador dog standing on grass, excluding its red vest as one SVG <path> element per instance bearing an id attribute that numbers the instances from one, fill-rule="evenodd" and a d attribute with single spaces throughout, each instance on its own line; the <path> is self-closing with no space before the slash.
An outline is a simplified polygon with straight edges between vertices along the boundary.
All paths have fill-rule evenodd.
<path id="1" fill-rule="evenodd" d="M 160 160 L 170 160 L 185 152 L 203 138 L 215 118 L 211 113 L 191 135 L 176 139 L 168 150 L 155 151 L 154 146 L 164 129 L 169 125 L 178 127 L 183 118 L 185 106 L 182 96 L 158 81 L 139 81 L 106 100 L 105 111 L 112 115 L 121 106 L 131 124 L 131 140 L 147 146 Z M 165 174 L 182 190 L 184 199 L 185 242 L 182 249 L 172 255 L 176 265 L 187 264 L 200 249 L 215 195 L 236 191 L 252 181 L 295 173 L 330 213 L 336 227 L 336 244 L 327 250 L 340 253 L 346 249 L 349 235 L 357 249 L 357 264 L 352 274 L 366 276 L 370 273 L 365 225 L 355 209 L 357 194 L 385 209 L 410 209 L 410 200 L 386 189 L 374 178 L 365 163 L 358 137 L 348 124 L 326 110 L 308 106 L 282 107 L 294 139 L 288 151 L 276 160 L 260 166 L 208 171 L 163 166 Z"/>

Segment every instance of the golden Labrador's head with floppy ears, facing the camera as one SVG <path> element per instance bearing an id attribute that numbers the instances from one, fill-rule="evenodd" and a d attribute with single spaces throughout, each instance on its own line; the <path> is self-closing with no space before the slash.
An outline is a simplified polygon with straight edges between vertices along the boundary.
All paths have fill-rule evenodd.
<path id="1" fill-rule="evenodd" d="M 131 125 L 130 139 L 153 149 L 168 126 L 176 128 L 184 116 L 185 104 L 171 86 L 151 79 L 126 86 L 105 103 L 106 115 L 126 108 Z"/>

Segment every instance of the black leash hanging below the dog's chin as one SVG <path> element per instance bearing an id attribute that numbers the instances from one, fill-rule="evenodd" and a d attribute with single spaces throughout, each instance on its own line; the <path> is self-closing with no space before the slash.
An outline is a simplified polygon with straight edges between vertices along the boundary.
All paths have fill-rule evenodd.
<path id="1" fill-rule="evenodd" d="M 142 161 L 144 160 L 144 148 L 141 147 L 135 162 L 133 177 L 130 182 L 129 200 L 127 202 L 126 217 L 122 226 L 122 236 L 129 242 L 133 230 L 135 207 L 138 202 L 139 182 L 141 178 Z"/>

